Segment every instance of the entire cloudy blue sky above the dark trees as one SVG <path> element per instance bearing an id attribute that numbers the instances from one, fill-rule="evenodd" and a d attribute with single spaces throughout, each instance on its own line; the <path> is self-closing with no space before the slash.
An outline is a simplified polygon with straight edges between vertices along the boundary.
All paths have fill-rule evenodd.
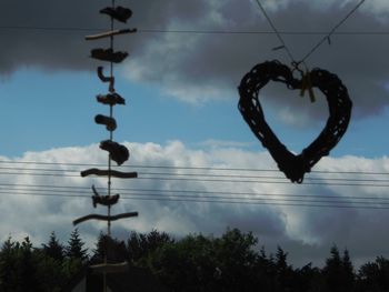
<path id="1" fill-rule="evenodd" d="M 116 48 L 130 56 L 114 67 L 116 89 L 127 100 L 126 107 L 114 108 L 114 140 L 128 145 L 131 158 L 123 168 L 138 171 L 139 179 L 113 181 L 118 192 L 137 190 L 113 211 L 139 211 L 140 215 L 113 224 L 116 236 L 152 229 L 178 236 L 199 232 L 219 235 L 230 226 L 252 231 L 269 252 L 280 245 L 296 265 L 311 261 L 323 264 L 332 244 L 349 249 L 356 263 L 389 256 L 389 235 L 385 232 L 388 210 L 339 208 L 351 203 L 387 207 L 387 1 L 366 1 L 330 43 L 325 42 L 306 61 L 310 69 L 337 74 L 348 88 L 353 108 L 342 140 L 298 185 L 277 171 L 237 108 L 237 88 L 252 67 L 268 60 L 291 63 L 286 50 L 272 50 L 280 41 L 257 2 L 117 2 L 133 10 L 128 23 L 118 28 L 138 28 L 139 32 L 116 40 Z M 296 60 L 301 60 L 358 3 L 261 2 Z M 107 71 L 108 64 L 89 56 L 91 49 L 106 48 L 108 42 L 84 41 L 83 37 L 109 27 L 108 18 L 99 13 L 109 4 L 76 0 L 0 2 L 0 239 L 29 235 L 42 243 L 54 230 L 67 240 L 73 219 L 106 212 L 102 208 L 94 210 L 90 198 L 56 198 L 64 192 L 54 190 L 61 187 L 70 195 L 88 197 L 92 184 L 101 191 L 106 187 L 104 179 L 81 179 L 78 172 L 89 164 L 107 163 L 99 142 L 108 133 L 94 124 L 93 118 L 108 112 L 94 98 L 107 93 L 96 69 L 106 66 Z M 326 123 L 325 97 L 318 89 L 316 94 L 318 100 L 311 103 L 280 84 L 261 91 L 267 121 L 291 151 L 306 148 Z M 172 168 L 146 168 L 167 165 Z M 31 175 L 44 171 L 28 169 L 51 169 L 50 173 L 60 175 Z M 162 180 L 161 174 L 150 173 L 189 179 Z M 140 190 L 151 197 L 139 200 Z M 47 197 L 31 195 L 50 192 Z M 197 195 L 196 202 L 178 201 L 191 192 Z M 220 203 L 220 199 L 209 202 L 216 200 L 210 195 L 229 198 L 225 200 L 228 203 Z M 335 199 L 337 203 L 328 207 Z M 318 204 L 327 207 L 313 207 Z M 92 242 L 104 226 L 89 222 L 79 230 Z"/>

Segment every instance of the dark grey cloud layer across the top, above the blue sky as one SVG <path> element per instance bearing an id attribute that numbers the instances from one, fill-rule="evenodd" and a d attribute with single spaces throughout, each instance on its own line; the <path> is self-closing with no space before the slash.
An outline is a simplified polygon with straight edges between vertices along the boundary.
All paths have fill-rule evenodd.
<path id="1" fill-rule="evenodd" d="M 124 3 L 121 3 L 124 4 Z M 328 32 L 357 1 L 263 1 L 280 31 Z M 3 26 L 106 28 L 108 20 L 98 13 L 100 2 L 69 0 L 53 2 L 16 0 L 0 3 Z M 128 27 L 143 30 L 120 38 L 118 49 L 131 54 L 122 70 L 132 81 L 157 83 L 162 92 L 188 102 L 216 98 L 237 98 L 237 85 L 256 63 L 280 59 L 290 63 L 275 34 L 146 33 L 144 30 L 271 31 L 256 1 L 167 0 L 134 1 Z M 21 9 L 23 8 L 23 9 Z M 301 13 L 303 11 L 303 13 Z M 365 3 L 339 31 L 380 32 L 387 28 L 387 1 Z M 86 42 L 91 31 L 2 29 L 0 70 L 11 73 L 21 67 L 48 70 L 94 70 L 88 57 L 93 47 L 106 42 Z M 295 58 L 300 60 L 322 38 L 283 36 Z M 385 36 L 333 36 L 307 60 L 310 68 L 330 70 L 349 88 L 355 117 L 379 114 L 388 105 L 389 42 Z M 276 105 L 299 109 L 296 99 L 271 92 Z M 313 119 L 326 117 L 309 111 Z M 287 122 L 293 122 L 288 120 Z"/>

